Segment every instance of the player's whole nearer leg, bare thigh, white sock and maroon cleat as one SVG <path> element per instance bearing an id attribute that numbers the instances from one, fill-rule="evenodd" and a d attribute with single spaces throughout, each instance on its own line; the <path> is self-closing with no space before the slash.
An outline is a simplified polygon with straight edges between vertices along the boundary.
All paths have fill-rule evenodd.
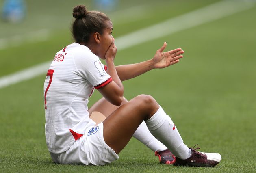
<path id="1" fill-rule="evenodd" d="M 103 121 L 105 142 L 119 153 L 143 120 L 150 132 L 179 158 L 177 165 L 212 167 L 220 162 L 219 154 L 202 154 L 189 149 L 183 143 L 171 118 L 148 95 L 135 97 Z"/>

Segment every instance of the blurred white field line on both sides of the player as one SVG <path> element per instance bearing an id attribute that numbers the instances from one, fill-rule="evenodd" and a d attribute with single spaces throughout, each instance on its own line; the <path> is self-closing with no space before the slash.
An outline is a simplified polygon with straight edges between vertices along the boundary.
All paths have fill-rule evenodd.
<path id="1" fill-rule="evenodd" d="M 255 5 L 253 0 L 224 0 L 211 4 L 209 6 L 197 9 L 195 11 L 174 17 L 165 22 L 144 28 L 128 35 L 124 35 L 115 39 L 118 50 L 124 50 L 132 46 L 145 43 L 159 37 L 173 34 L 181 30 L 192 28 L 200 24 L 211 22 L 240 11 L 252 8 Z M 22 71 L 18 71 L 14 74 L 3 76 L 0 78 L 0 88 L 9 86 L 21 82 L 23 80 L 28 80 L 39 76 L 41 74 L 46 74 L 46 71 L 50 65 L 50 62 L 42 63 Z"/>

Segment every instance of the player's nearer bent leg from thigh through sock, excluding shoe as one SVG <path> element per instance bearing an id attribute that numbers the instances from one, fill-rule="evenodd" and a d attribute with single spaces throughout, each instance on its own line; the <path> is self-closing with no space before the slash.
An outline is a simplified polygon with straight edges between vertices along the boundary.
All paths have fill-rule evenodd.
<path id="1" fill-rule="evenodd" d="M 160 119 L 160 122 L 156 120 L 150 123 L 150 118 L 152 116 L 157 120 Z M 169 149 L 174 150 L 175 156 L 179 156 L 182 159 L 189 158 L 191 151 L 184 145 L 177 128 L 172 130 L 173 127 L 170 127 L 169 121 L 170 117 L 165 114 L 154 98 L 149 95 L 139 95 L 135 97 L 120 108 L 117 108 L 117 110 L 103 121 L 104 139 L 106 140 L 106 143 L 109 144 L 114 151 L 119 153 L 119 151 L 121 151 L 121 149 L 128 143 L 132 134 L 143 120 L 145 120 L 149 130 L 152 129 L 151 126 L 155 125 L 155 123 L 156 125 L 165 123 L 163 125 L 164 128 L 158 127 L 158 125 L 156 128 L 152 129 L 151 132 L 154 133 L 155 131 L 159 131 L 159 129 L 162 130 L 159 135 L 153 135 L 156 138 L 160 138 L 162 143 L 165 141 L 165 146 L 169 145 Z M 117 141 L 119 138 L 120 140 Z M 171 140 L 167 138 L 171 138 Z"/>

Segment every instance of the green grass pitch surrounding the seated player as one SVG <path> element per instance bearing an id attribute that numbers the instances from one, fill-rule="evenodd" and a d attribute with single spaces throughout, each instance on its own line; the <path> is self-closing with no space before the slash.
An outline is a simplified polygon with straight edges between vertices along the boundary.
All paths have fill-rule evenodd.
<path id="1" fill-rule="evenodd" d="M 72 42 L 72 7 L 87 3 L 89 9 L 95 9 L 92 1 L 62 2 L 27 0 L 28 16 L 23 23 L 0 22 L 0 39 L 40 29 L 50 31 L 45 41 L 24 41 L 0 49 L 0 77 L 52 60 L 56 51 Z M 118 38 L 215 2 L 120 0 L 119 13 L 132 6 L 143 10 L 136 14 L 126 11 L 124 20 L 110 15 L 113 36 Z M 255 16 L 256 5 L 120 50 L 115 59 L 116 65 L 145 61 L 165 41 L 166 50 L 181 47 L 185 51 L 178 64 L 123 82 L 124 96 L 152 95 L 171 116 L 184 143 L 189 147 L 199 144 L 200 151 L 221 154 L 216 167 L 159 164 L 154 152 L 134 138 L 121 151 L 119 160 L 105 166 L 54 164 L 45 143 L 45 75 L 41 75 L 0 88 L 0 172 L 256 172 Z M 95 92 L 89 106 L 99 98 Z"/>

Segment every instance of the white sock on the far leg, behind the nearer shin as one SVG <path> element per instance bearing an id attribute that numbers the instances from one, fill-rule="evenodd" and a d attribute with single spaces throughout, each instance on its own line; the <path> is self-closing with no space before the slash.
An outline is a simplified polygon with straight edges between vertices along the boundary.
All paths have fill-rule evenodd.
<path id="1" fill-rule="evenodd" d="M 148 130 L 148 127 L 143 121 L 141 125 L 137 128 L 133 137 L 141 141 L 147 147 L 149 147 L 152 151 L 163 151 L 167 149 L 165 145 L 163 145 L 160 141 L 158 141 Z"/>

